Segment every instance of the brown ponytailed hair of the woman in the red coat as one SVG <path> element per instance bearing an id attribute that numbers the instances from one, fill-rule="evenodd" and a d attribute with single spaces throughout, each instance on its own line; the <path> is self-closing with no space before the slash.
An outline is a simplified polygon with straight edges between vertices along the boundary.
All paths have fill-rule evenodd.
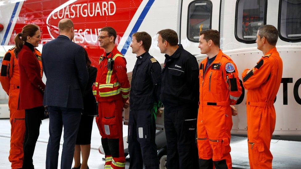
<path id="1" fill-rule="evenodd" d="M 18 33 L 17 36 L 14 38 L 14 43 L 16 44 L 16 49 L 14 50 L 14 54 L 18 57 L 20 50 L 25 43 L 27 36 L 33 37 L 35 32 L 39 30 L 39 26 L 35 24 L 28 24 L 22 28 L 22 32 Z"/>

